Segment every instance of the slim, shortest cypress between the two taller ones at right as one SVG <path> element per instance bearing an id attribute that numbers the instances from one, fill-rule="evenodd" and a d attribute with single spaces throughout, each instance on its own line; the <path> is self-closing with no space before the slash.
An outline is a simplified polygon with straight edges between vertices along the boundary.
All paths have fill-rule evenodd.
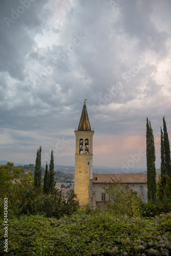
<path id="1" fill-rule="evenodd" d="M 161 130 L 161 166 L 160 166 L 160 170 L 161 170 L 161 184 L 163 187 L 165 187 L 166 185 L 166 169 L 165 169 L 165 160 L 164 160 L 164 138 L 163 138 L 163 131 L 162 131 L 162 127 L 160 127 Z"/>

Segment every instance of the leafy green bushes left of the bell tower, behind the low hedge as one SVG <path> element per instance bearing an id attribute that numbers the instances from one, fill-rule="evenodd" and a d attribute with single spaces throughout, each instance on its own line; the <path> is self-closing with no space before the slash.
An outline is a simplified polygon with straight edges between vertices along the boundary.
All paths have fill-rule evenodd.
<path id="1" fill-rule="evenodd" d="M 63 197 L 61 191 L 55 190 L 47 195 L 42 192 L 42 188 L 34 188 L 34 177 L 32 173 L 18 176 L 19 182 L 10 183 L 6 187 L 8 198 L 9 218 L 19 217 L 20 215 L 42 214 L 46 217 L 60 218 L 63 215 L 71 215 L 77 210 L 76 195 Z M 1 216 L 4 215 L 4 197 L 1 198 Z"/>

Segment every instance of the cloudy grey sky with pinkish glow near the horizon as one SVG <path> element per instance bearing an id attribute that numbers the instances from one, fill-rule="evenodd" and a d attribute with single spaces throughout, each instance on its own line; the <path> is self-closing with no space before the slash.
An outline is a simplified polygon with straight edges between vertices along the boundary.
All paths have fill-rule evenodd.
<path id="1" fill-rule="evenodd" d="M 93 163 L 146 167 L 146 117 L 160 167 L 171 142 L 171 1 L 2 0 L 0 160 L 74 165 L 84 98 Z"/>

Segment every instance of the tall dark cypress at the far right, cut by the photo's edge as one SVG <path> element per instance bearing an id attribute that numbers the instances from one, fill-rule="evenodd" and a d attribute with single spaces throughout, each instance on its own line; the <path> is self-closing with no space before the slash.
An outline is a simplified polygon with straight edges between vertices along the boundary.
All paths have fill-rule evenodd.
<path id="1" fill-rule="evenodd" d="M 165 117 L 163 117 L 163 141 L 164 141 L 164 161 L 166 175 L 171 177 L 171 162 L 170 162 L 170 144 L 168 140 L 167 127 Z"/>

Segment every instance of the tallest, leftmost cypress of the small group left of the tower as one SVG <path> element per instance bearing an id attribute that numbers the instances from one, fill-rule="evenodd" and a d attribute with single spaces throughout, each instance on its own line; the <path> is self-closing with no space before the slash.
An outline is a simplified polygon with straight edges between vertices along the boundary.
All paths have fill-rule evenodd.
<path id="1" fill-rule="evenodd" d="M 36 163 L 34 169 L 34 188 L 41 187 L 41 146 L 39 146 L 36 155 Z"/>

